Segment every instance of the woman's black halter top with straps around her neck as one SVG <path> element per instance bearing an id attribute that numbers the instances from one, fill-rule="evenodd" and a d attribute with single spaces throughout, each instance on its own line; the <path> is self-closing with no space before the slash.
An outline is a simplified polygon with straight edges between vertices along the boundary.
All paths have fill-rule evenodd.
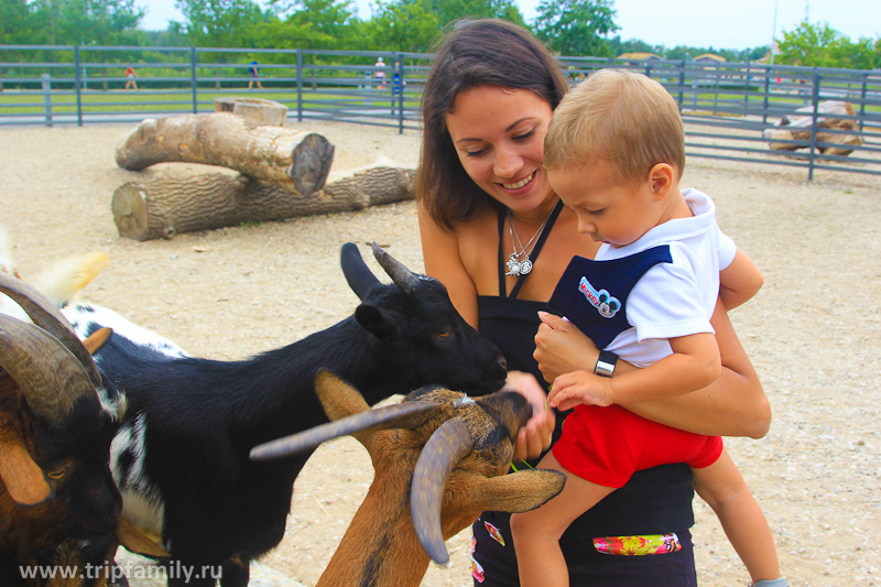
<path id="1" fill-rule="evenodd" d="M 541 252 L 544 239 L 551 232 L 562 205 L 558 203 L 548 218 L 544 232 L 535 243 L 530 260 Z M 504 210 L 499 210 L 499 296 L 478 296 L 480 334 L 496 344 L 504 354 L 510 370 L 532 373 L 544 385 L 547 382 L 539 371 L 539 363 L 532 354 L 535 350 L 535 333 L 541 320 L 537 312 L 551 312 L 543 302 L 518 300 L 524 279 L 520 275 L 518 284 L 508 296 L 504 285 L 501 239 L 504 226 Z M 568 412 L 556 412 L 556 430 L 553 442 L 559 438 L 563 420 Z M 534 466 L 536 461 L 530 464 Z M 694 525 L 692 511 L 692 471 L 687 465 L 662 465 L 638 471 L 624 487 L 612 491 L 578 518 L 565 535 L 567 537 L 623 536 L 635 534 L 664 534 L 687 530 Z"/>

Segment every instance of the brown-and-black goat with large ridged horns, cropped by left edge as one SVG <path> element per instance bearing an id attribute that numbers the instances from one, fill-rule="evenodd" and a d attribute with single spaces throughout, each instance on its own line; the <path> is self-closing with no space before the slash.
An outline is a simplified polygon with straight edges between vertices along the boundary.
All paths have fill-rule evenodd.
<path id="1" fill-rule="evenodd" d="M 40 292 L 0 272 L 0 585 L 104 586 L 113 576 L 122 499 L 110 443 L 124 401 Z M 89 348 L 87 348 L 89 346 Z"/>

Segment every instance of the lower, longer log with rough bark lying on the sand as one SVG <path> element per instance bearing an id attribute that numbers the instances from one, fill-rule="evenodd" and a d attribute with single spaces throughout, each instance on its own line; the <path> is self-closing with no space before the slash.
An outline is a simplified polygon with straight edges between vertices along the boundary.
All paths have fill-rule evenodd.
<path id="1" fill-rule="evenodd" d="M 413 197 L 415 171 L 377 163 L 338 176 L 307 196 L 244 175 L 156 176 L 121 185 L 111 208 L 119 235 L 170 239 L 242 222 L 358 210 Z"/>

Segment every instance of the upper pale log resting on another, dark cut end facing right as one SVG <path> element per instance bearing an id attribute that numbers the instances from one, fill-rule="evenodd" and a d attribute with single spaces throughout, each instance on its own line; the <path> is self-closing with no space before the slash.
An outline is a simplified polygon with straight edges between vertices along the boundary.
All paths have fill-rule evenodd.
<path id="1" fill-rule="evenodd" d="M 131 171 L 171 162 L 220 165 L 309 196 L 327 181 L 334 145 L 320 134 L 214 112 L 148 118 L 120 142 L 116 156 Z"/>

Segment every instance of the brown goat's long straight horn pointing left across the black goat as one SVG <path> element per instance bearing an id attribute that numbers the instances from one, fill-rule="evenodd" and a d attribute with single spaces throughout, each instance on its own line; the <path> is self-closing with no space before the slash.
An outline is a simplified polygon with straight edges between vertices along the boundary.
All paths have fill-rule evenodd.
<path id="1" fill-rule="evenodd" d="M 368 410 L 354 416 L 328 422 L 298 434 L 292 434 L 284 438 L 258 445 L 251 449 L 251 460 L 270 460 L 311 450 L 326 441 L 356 432 L 415 427 L 432 417 L 439 405 L 432 402 L 403 402 Z"/>

